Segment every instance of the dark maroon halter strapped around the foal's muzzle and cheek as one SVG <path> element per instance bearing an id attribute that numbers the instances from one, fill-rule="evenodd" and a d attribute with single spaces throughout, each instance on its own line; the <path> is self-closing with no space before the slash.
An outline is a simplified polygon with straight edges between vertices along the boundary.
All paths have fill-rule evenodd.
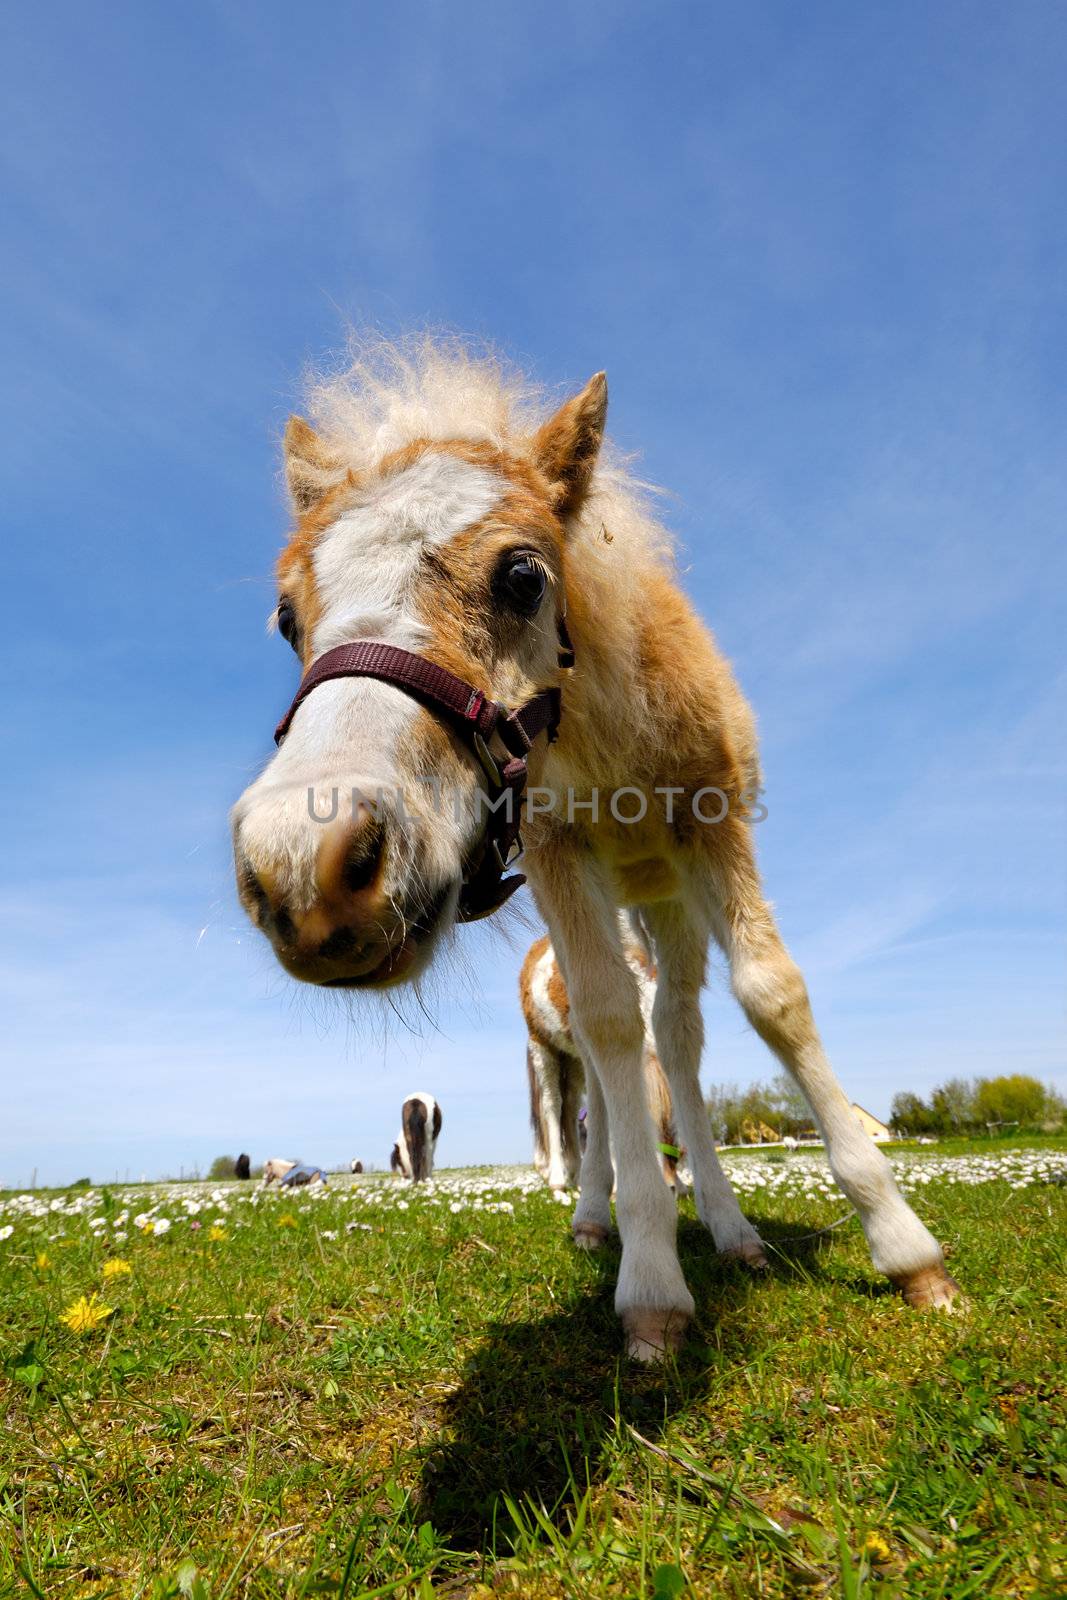
<path id="1" fill-rule="evenodd" d="M 560 618 L 560 666 L 574 666 L 574 650 Z M 445 722 L 453 733 L 477 755 L 485 773 L 490 797 L 482 848 L 464 866 L 459 891 L 459 920 L 477 922 L 488 917 L 498 906 L 526 882 L 522 872 L 504 877 L 512 861 L 522 854 L 518 827 L 526 794 L 526 758 L 534 739 L 544 733 L 553 742 L 560 726 L 560 691 L 541 690 L 517 710 L 509 710 L 499 701 L 490 699 L 483 690 L 458 678 L 454 672 L 438 667 L 426 656 L 416 656 L 398 645 L 384 645 L 360 638 L 352 645 L 328 650 L 301 680 L 293 704 L 274 730 L 274 742 L 282 744 L 298 707 L 320 683 L 331 678 L 378 678 L 392 683 L 426 706 Z M 496 734 L 507 750 L 501 766 L 490 752 L 490 739 Z"/>

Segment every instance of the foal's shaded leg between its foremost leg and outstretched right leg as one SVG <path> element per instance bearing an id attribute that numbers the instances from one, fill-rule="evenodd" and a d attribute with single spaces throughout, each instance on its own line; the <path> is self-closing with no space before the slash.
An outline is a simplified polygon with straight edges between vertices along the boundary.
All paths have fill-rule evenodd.
<path id="1" fill-rule="evenodd" d="M 725 1256 L 750 1267 L 766 1267 L 763 1240 L 745 1216 L 715 1154 L 712 1125 L 701 1094 L 704 1016 L 701 989 L 707 934 L 685 907 L 659 901 L 641 912 L 656 954 L 657 982 L 653 1005 L 656 1051 L 670 1083 L 681 1144 L 689 1152 L 696 1214 Z"/>

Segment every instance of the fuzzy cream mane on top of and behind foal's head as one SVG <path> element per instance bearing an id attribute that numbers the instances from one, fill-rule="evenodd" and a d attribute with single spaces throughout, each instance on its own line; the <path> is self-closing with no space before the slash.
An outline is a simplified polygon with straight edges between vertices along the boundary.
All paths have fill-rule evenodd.
<path id="1" fill-rule="evenodd" d="M 467 438 L 523 456 L 565 398 L 488 346 L 429 333 L 400 341 L 352 336 L 344 363 L 333 373 L 309 373 L 304 387 L 310 421 L 358 474 L 416 438 Z M 616 603 L 622 574 L 673 565 L 670 536 L 649 507 L 653 493 L 606 445 L 573 538 L 589 547 L 593 568 L 609 554 Z"/>

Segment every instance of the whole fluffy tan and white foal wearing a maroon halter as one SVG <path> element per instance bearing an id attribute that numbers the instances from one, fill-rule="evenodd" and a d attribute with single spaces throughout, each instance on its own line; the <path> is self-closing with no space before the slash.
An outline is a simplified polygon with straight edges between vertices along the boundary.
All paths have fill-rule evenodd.
<path id="1" fill-rule="evenodd" d="M 619 906 L 649 930 L 656 1048 L 718 1250 L 765 1259 L 701 1098 L 710 939 L 805 1091 L 877 1269 L 913 1306 L 949 1304 L 941 1248 L 833 1077 L 763 896 L 752 714 L 638 485 L 605 459 L 606 405 L 598 374 L 545 419 L 496 362 L 422 341 L 357 355 L 315 389 L 317 427 L 290 422 L 296 528 L 277 618 L 304 680 L 278 754 L 234 810 L 242 901 L 306 982 L 416 979 L 458 917 L 515 886 L 501 872 L 518 816 L 486 800 L 520 798 L 530 773 L 525 869 L 606 1104 L 629 1350 L 677 1346 L 694 1307 Z M 371 803 L 379 789 L 402 794 Z M 613 1176 L 603 1150 L 584 1163 L 585 1237 L 608 1230 Z"/>

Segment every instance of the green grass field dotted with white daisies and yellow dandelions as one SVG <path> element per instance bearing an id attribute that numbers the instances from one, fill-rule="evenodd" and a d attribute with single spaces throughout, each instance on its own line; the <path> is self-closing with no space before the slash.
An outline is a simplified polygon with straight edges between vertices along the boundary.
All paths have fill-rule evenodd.
<path id="1" fill-rule="evenodd" d="M 525 1170 L 3 1195 L 0 1592 L 1067 1595 L 1067 1146 L 960 1150 L 896 1160 L 965 1314 L 808 1237 L 819 1157 L 736 1155 L 776 1267 L 683 1202 L 659 1371 Z"/>

